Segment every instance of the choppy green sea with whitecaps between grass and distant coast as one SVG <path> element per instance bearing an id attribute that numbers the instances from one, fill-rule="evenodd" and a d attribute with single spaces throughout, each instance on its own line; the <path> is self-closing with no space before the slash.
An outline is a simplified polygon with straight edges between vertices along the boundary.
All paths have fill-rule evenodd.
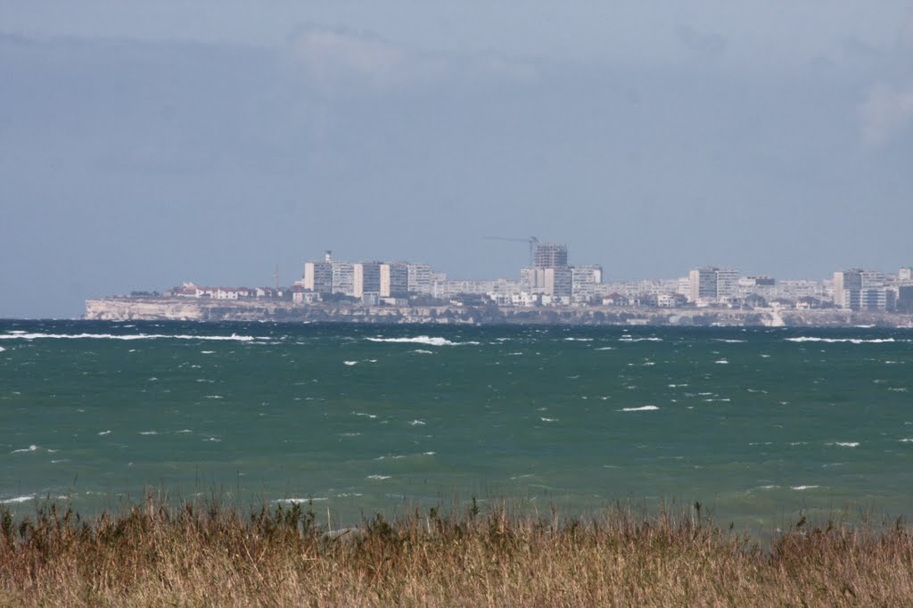
<path id="1" fill-rule="evenodd" d="M 0 503 L 913 513 L 913 330 L 0 321 Z"/>

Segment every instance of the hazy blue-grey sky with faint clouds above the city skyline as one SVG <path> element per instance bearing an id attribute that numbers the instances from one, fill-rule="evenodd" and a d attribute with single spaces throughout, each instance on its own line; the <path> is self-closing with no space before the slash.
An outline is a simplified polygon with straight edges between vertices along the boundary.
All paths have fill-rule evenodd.
<path id="1" fill-rule="evenodd" d="M 0 0 L 0 318 L 322 257 L 913 265 L 913 2 Z"/>

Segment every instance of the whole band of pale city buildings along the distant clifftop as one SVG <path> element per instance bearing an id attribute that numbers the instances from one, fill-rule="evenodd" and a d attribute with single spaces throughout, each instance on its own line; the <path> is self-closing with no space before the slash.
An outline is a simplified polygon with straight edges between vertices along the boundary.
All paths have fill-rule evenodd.
<path id="1" fill-rule="evenodd" d="M 776 280 L 742 275 L 731 267 L 696 267 L 685 277 L 604 281 L 597 264 L 568 264 L 561 243 L 531 239 L 530 266 L 518 279 L 454 280 L 427 264 L 350 262 L 332 257 L 304 264 L 290 288 L 206 288 L 184 283 L 167 295 L 179 298 L 285 298 L 314 304 L 348 299 L 364 305 L 493 303 L 500 307 L 618 306 L 845 309 L 913 312 L 913 268 L 896 274 L 859 268 L 833 278 Z"/>

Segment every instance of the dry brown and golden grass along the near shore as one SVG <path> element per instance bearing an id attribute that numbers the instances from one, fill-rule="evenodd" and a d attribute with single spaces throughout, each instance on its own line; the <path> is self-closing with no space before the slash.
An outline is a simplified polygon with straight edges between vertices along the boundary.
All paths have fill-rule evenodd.
<path id="1" fill-rule="evenodd" d="M 913 537 L 899 522 L 800 520 L 761 546 L 696 507 L 560 521 L 473 501 L 335 531 L 307 505 L 151 499 L 90 521 L 53 504 L 25 519 L 0 509 L 0 604 L 913 605 Z"/>

